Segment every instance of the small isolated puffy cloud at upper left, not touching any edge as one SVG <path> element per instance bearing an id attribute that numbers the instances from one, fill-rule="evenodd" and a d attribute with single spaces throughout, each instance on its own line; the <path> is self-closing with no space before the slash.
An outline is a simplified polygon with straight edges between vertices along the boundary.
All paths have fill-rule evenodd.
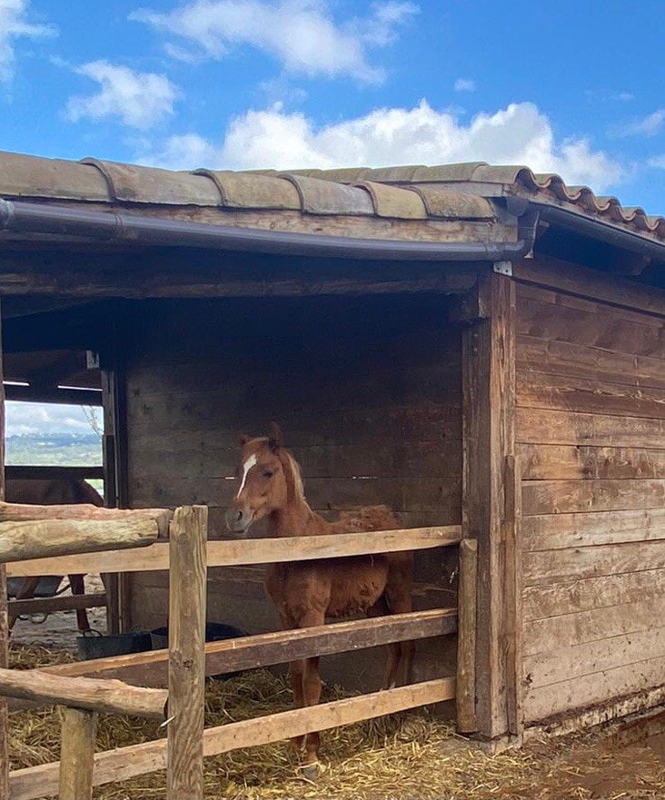
<path id="1" fill-rule="evenodd" d="M 100 89 L 69 98 L 66 114 L 73 122 L 118 116 L 125 125 L 146 130 L 174 113 L 179 93 L 165 75 L 139 73 L 108 61 L 92 61 L 75 71 L 92 78 Z"/>

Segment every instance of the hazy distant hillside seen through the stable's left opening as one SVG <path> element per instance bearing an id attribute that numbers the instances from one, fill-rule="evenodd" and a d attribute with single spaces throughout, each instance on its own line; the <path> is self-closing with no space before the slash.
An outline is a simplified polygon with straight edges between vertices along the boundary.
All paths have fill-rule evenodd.
<path id="1" fill-rule="evenodd" d="M 102 440 L 96 433 L 24 433 L 5 440 L 6 463 L 96 467 L 102 463 Z"/>

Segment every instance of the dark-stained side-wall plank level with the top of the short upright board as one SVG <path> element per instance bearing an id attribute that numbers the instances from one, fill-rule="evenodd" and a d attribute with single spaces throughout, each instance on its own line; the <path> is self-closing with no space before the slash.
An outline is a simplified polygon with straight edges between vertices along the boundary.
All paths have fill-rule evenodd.
<path id="1" fill-rule="evenodd" d="M 525 480 L 665 478 L 665 449 L 518 445 Z"/>

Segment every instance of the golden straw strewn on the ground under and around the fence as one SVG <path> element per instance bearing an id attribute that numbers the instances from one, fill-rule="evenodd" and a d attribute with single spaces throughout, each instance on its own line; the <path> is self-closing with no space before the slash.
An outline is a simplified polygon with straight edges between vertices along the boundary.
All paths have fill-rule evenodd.
<path id="1" fill-rule="evenodd" d="M 11 657 L 13 667 L 23 668 L 71 660 L 66 654 L 21 646 L 12 647 Z M 327 687 L 323 700 L 342 696 L 339 688 Z M 258 670 L 208 684 L 205 724 L 223 725 L 291 707 L 286 681 Z M 131 745 L 160 735 L 154 722 L 102 715 L 97 749 Z M 59 736 L 60 719 L 55 708 L 13 715 L 13 767 L 57 759 Z M 329 731 L 323 735 L 322 759 L 327 769 L 313 784 L 296 775 L 297 760 L 285 743 L 208 758 L 205 796 L 228 800 L 665 797 L 665 767 L 649 748 L 603 749 L 598 734 L 578 735 L 536 742 L 490 758 L 455 736 L 452 726 L 426 710 Z M 164 772 L 100 786 L 95 797 L 164 800 Z"/>

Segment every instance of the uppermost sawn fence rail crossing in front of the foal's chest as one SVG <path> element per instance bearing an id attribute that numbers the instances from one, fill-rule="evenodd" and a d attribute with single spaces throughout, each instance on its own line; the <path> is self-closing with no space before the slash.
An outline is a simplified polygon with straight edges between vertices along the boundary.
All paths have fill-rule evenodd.
<path id="1" fill-rule="evenodd" d="M 316 558 L 394 553 L 452 545 L 462 538 L 462 526 L 400 528 L 328 536 L 257 538 L 209 541 L 208 567 L 243 567 Z M 157 542 L 147 548 L 122 552 L 106 550 L 94 555 L 35 558 L 7 564 L 7 576 L 78 575 L 88 572 L 150 572 L 169 568 L 168 544 Z"/>

